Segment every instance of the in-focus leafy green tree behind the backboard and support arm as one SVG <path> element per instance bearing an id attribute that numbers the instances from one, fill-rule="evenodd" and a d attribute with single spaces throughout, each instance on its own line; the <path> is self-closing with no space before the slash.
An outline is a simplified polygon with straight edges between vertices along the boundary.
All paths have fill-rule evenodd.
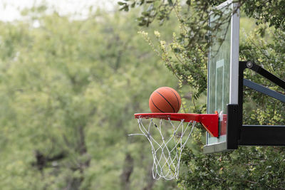
<path id="1" fill-rule="evenodd" d="M 207 88 L 207 18 L 214 6 L 222 1 L 120 1 L 121 9 L 140 6 L 140 26 L 150 26 L 157 20 L 160 24 L 171 20 L 172 13 L 180 24 L 180 32 L 173 35 L 172 41 L 163 41 L 155 32 L 160 46 L 155 47 L 167 68 L 175 73 L 182 92 L 190 85 L 192 98 L 182 95 L 184 102 L 191 102 L 186 111 L 205 112 L 201 99 Z M 284 6 L 285 1 L 239 1 L 242 14 L 255 19 L 254 30 L 242 33 L 240 59 L 252 60 L 271 71 L 279 78 L 284 75 Z M 264 6 L 264 4 L 266 6 Z M 214 14 L 221 14 L 216 11 Z M 247 19 L 247 21 L 252 21 Z M 218 28 L 213 28 L 217 30 Z M 159 30 L 159 28 L 157 28 Z M 150 38 L 142 32 L 150 43 Z M 151 43 L 152 44 L 152 43 Z M 154 46 L 152 46 L 154 47 Z M 246 78 L 266 84 L 269 88 L 280 88 L 247 72 Z M 184 90 L 184 91 L 183 91 Z M 189 92 L 187 92 L 189 93 Z M 257 125 L 284 124 L 284 104 L 252 90 L 244 90 L 247 109 L 244 122 Z M 185 98 L 186 97 L 186 98 Z M 204 101 L 205 102 L 205 101 Z M 252 107 L 254 109 L 252 109 Z M 204 130 L 198 129 L 191 149 L 187 149 L 182 161 L 187 172 L 177 181 L 178 186 L 187 189 L 281 189 L 284 187 L 284 148 L 283 147 L 240 147 L 234 152 L 202 154 Z"/>

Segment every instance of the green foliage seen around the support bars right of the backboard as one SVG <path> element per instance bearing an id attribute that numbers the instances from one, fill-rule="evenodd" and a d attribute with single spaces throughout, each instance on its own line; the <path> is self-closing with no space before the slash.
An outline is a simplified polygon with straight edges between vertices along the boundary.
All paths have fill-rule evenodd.
<path id="1" fill-rule="evenodd" d="M 261 38 L 258 30 L 246 38 L 240 46 L 241 58 L 253 60 L 259 65 L 263 65 L 266 70 L 274 73 L 279 78 L 285 78 L 285 59 L 284 59 L 284 31 L 277 29 L 271 31 L 271 41 L 267 42 Z M 250 78 L 256 83 L 264 84 L 266 87 L 283 92 L 274 83 L 264 80 L 260 75 L 247 71 L 246 78 Z M 254 102 L 255 110 L 249 110 L 244 114 L 244 121 L 257 125 L 282 125 L 284 123 L 284 104 L 266 95 L 261 95 L 254 90 L 244 91 L 246 102 Z"/>

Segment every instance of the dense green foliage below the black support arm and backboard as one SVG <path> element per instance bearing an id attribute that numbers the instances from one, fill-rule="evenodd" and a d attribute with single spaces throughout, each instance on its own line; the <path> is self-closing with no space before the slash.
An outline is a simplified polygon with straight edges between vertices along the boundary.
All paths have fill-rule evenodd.
<path id="1" fill-rule="evenodd" d="M 179 183 L 188 189 L 280 189 L 284 148 L 242 147 L 223 154 L 183 155 L 188 171 Z"/>

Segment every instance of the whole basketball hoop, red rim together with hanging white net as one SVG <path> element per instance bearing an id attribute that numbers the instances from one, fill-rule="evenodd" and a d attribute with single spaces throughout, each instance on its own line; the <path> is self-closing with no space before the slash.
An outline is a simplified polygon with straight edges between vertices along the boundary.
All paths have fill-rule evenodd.
<path id="1" fill-rule="evenodd" d="M 153 179 L 178 179 L 182 150 L 196 122 L 218 136 L 217 114 L 139 113 L 135 118 L 142 133 L 129 136 L 142 135 L 150 142 Z"/>

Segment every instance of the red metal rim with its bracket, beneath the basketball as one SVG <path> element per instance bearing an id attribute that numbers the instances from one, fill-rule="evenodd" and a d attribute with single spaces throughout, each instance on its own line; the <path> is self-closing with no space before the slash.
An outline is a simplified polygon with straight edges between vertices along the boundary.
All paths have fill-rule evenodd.
<path id="1" fill-rule="evenodd" d="M 196 121 L 202 123 L 204 128 L 213 137 L 219 137 L 219 115 L 218 114 L 195 114 L 195 113 L 136 113 L 135 118 L 158 118 L 172 121 L 185 122 Z"/>

